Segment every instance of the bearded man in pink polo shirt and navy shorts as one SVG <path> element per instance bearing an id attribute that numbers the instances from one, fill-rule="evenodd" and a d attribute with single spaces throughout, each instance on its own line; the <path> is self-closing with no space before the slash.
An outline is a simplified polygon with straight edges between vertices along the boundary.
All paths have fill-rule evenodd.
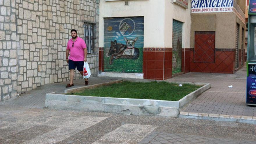
<path id="1" fill-rule="evenodd" d="M 82 38 L 77 36 L 77 30 L 71 30 L 72 39 L 67 42 L 66 49 L 66 61 L 68 63 L 68 69 L 70 71 L 70 83 L 67 84 L 66 88 L 74 86 L 74 70 L 77 67 L 77 70 L 83 76 L 83 62 L 86 62 L 87 48 L 86 44 Z M 69 58 L 68 55 L 70 54 Z M 85 85 L 89 83 L 88 79 L 85 79 Z"/>

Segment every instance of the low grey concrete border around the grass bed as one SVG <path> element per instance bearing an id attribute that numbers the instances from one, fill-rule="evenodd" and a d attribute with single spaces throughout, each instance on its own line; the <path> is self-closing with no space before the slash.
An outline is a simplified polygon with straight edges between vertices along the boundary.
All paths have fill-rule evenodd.
<path id="1" fill-rule="evenodd" d="M 65 90 L 65 93 L 83 88 L 95 88 L 101 85 L 118 83 L 122 80 L 101 83 L 92 86 L 83 86 Z M 186 83 L 186 82 L 175 82 Z M 92 97 L 92 96 L 76 96 L 47 93 L 45 106 L 53 109 L 75 109 L 83 111 L 95 111 L 106 113 L 123 113 L 127 115 L 154 115 L 177 117 L 179 109 L 198 97 L 201 93 L 210 88 L 210 83 L 190 83 L 195 85 L 203 85 L 201 88 L 186 95 L 179 101 L 163 101 L 154 99 L 129 99 L 129 98 L 112 98 L 112 97 Z"/>

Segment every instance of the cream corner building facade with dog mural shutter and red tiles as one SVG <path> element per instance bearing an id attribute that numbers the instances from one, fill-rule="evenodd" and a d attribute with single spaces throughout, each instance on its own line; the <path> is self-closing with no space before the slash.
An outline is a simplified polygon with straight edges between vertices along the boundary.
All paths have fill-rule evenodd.
<path id="1" fill-rule="evenodd" d="M 163 80 L 184 72 L 190 2 L 101 0 L 99 11 L 99 76 Z"/>

